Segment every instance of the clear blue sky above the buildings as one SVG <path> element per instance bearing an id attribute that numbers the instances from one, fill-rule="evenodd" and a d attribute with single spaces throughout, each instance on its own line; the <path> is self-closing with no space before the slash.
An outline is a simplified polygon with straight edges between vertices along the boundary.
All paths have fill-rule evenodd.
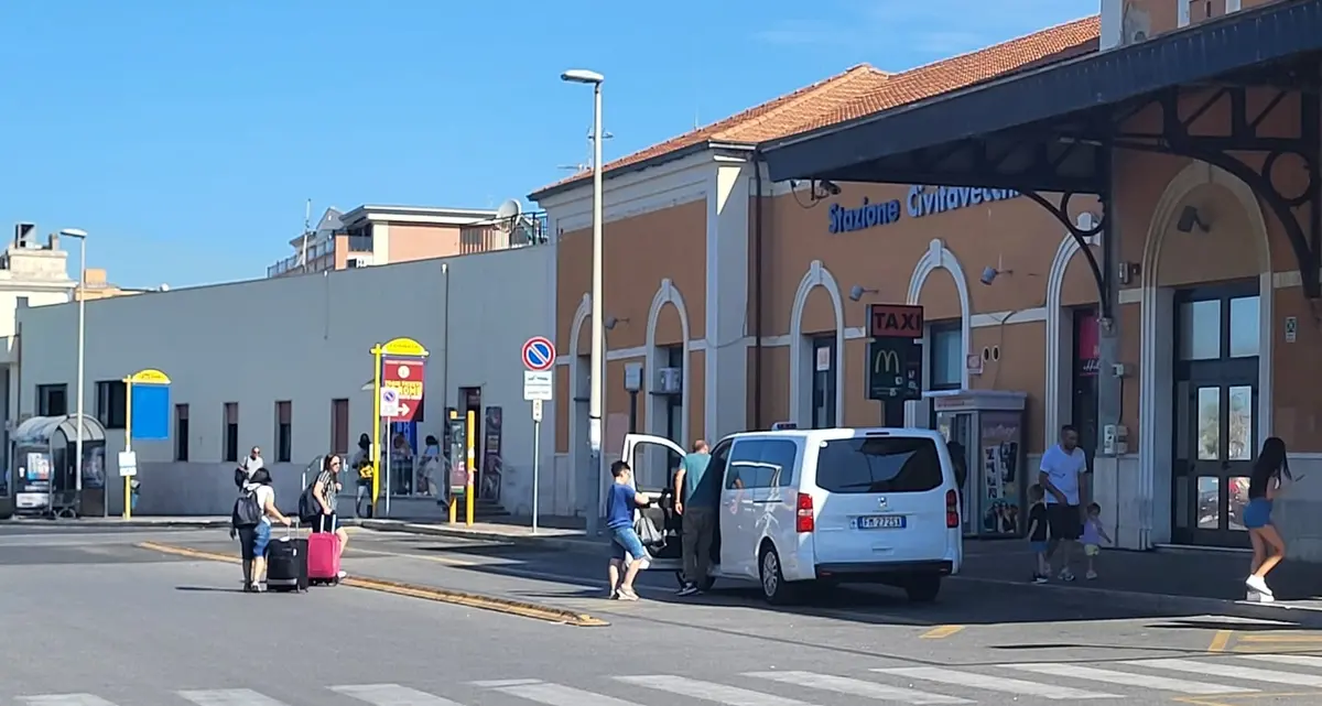
<path id="1" fill-rule="evenodd" d="M 0 221 L 91 233 L 122 286 L 264 276 L 304 204 L 494 206 L 869 62 L 902 70 L 1097 0 L 0 3 Z M 7 237 L 8 239 L 8 237 Z"/>

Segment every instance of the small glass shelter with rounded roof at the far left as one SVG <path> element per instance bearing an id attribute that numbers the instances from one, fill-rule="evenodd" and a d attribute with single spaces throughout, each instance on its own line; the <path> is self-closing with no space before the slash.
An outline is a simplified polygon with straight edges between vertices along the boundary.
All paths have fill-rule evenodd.
<path id="1" fill-rule="evenodd" d="M 9 483 L 20 516 L 100 516 L 106 504 L 106 427 L 83 415 L 82 493 L 74 463 L 78 420 L 74 415 L 33 416 L 9 436 Z"/>

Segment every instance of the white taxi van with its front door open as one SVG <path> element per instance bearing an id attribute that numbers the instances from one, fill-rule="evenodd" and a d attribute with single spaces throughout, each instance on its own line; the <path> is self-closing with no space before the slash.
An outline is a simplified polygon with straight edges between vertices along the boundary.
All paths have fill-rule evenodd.
<path id="1" fill-rule="evenodd" d="M 673 455 L 683 453 L 660 436 L 624 440 L 620 457 L 635 468 L 672 465 L 664 476 L 636 475 L 669 479 L 661 501 L 644 510 L 665 535 L 664 546 L 649 547 L 652 570 L 681 569 Z M 936 431 L 735 434 L 711 448 L 707 472 L 719 475 L 722 488 L 710 580 L 754 579 L 771 603 L 842 582 L 886 583 L 929 602 L 964 561 L 954 468 Z"/>

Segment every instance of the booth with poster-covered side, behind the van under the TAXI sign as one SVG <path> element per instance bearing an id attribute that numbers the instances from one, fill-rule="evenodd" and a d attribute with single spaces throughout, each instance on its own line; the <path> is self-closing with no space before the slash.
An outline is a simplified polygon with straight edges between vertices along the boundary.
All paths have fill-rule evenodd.
<path id="1" fill-rule="evenodd" d="M 1026 393 L 931 390 L 936 427 L 968 468 L 961 490 L 965 537 L 1022 537 L 1032 476 L 1025 468 Z M 954 460 L 960 463 L 960 460 Z"/>

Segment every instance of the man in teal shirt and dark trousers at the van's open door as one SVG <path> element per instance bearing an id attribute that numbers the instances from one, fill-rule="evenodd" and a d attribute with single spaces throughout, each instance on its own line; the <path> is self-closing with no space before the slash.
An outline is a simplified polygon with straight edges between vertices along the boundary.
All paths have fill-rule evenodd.
<path id="1" fill-rule="evenodd" d="M 683 586 L 681 596 L 702 592 L 711 569 L 711 542 L 717 535 L 717 506 L 720 504 L 720 479 L 707 473 L 711 453 L 707 442 L 698 439 L 693 452 L 683 456 L 674 475 L 674 510 L 683 518 Z"/>

